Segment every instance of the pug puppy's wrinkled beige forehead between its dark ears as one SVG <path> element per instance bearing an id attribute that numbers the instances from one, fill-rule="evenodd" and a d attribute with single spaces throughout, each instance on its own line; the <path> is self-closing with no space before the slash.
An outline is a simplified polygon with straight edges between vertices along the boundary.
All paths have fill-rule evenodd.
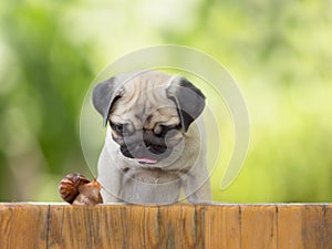
<path id="1" fill-rule="evenodd" d="M 123 95 L 110 113 L 114 123 L 132 123 L 135 129 L 153 129 L 156 125 L 177 125 L 179 116 L 166 89 L 172 75 L 146 72 L 133 76 L 123 85 Z"/>

